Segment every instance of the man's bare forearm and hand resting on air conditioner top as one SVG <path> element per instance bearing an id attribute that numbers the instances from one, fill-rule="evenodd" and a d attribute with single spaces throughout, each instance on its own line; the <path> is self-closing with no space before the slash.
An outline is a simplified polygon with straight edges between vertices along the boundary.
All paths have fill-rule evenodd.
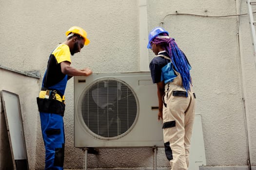
<path id="1" fill-rule="evenodd" d="M 70 63 L 68 61 L 63 61 L 60 63 L 61 67 L 61 72 L 63 74 L 68 75 L 68 79 L 70 79 L 73 76 L 89 76 L 93 72 L 89 68 L 84 68 L 84 69 L 76 69 L 70 66 Z"/>

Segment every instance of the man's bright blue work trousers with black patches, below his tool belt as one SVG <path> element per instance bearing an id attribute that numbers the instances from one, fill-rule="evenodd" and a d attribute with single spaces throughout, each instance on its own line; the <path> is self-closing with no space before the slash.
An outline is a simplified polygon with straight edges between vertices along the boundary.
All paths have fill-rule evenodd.
<path id="1" fill-rule="evenodd" d="M 64 124 L 57 114 L 40 112 L 42 137 L 45 146 L 45 169 L 63 170 L 64 163 Z"/>

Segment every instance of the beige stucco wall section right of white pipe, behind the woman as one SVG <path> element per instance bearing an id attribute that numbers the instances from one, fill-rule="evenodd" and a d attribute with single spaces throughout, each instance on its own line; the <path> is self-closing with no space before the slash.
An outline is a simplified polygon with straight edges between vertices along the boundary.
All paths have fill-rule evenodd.
<path id="1" fill-rule="evenodd" d="M 242 77 L 244 70 L 241 72 L 240 67 L 249 71 L 250 76 L 255 74 L 248 16 L 241 18 L 241 25 L 246 30 L 242 36 L 248 36 L 241 48 L 246 48 L 245 51 L 250 57 L 248 56 L 247 61 L 241 66 L 240 58 L 244 56 L 239 54 L 237 17 L 169 14 L 177 12 L 202 16 L 235 15 L 237 3 L 239 6 L 238 1 L 230 0 L 148 2 L 149 28 L 162 22 L 161 25 L 176 39 L 192 65 L 194 90 L 197 94 L 196 113 L 202 114 L 206 160 L 207 165 L 211 166 L 247 164 L 247 123 L 242 91 L 244 87 L 247 88 L 247 81 L 252 83 L 255 79 L 248 79 L 249 75 Z M 246 2 L 241 3 L 241 13 L 246 13 Z M 244 66 L 248 64 L 251 66 Z M 255 85 L 250 85 L 250 88 L 255 90 Z M 255 102 L 255 97 L 250 96 L 249 99 Z M 247 106 L 252 110 L 247 110 L 246 113 L 255 117 L 255 106 L 250 103 Z M 248 122 L 251 126 L 253 119 L 255 118 L 250 118 Z M 249 131 L 250 137 L 255 138 L 251 127 Z M 255 152 L 254 147 L 251 148 L 251 152 Z"/>

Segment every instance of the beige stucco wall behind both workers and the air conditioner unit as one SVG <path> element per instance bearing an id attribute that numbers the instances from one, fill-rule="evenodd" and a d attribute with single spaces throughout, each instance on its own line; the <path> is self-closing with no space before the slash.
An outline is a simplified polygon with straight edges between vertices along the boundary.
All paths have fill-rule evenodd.
<path id="1" fill-rule="evenodd" d="M 176 11 L 231 15 L 236 14 L 239 4 L 238 0 L 147 0 L 148 30 L 163 22 L 193 67 L 196 112 L 202 114 L 209 166 L 247 165 L 246 114 L 251 163 L 256 165 L 256 69 L 248 16 L 240 17 L 238 23 L 238 17 L 166 15 Z M 241 1 L 241 6 L 240 13 L 246 13 L 246 0 Z M 94 72 L 137 71 L 140 63 L 138 10 L 138 0 L 0 1 L 1 65 L 24 71 L 39 70 L 43 75 L 52 49 L 65 40 L 64 33 L 69 27 L 77 25 L 87 31 L 91 44 L 71 58 L 73 67 L 90 67 Z M 153 56 L 149 51 L 149 61 Z M 65 168 L 81 168 L 83 153 L 73 147 L 73 79 L 67 85 L 66 97 Z M 41 169 L 44 149 L 37 122 L 35 168 Z M 162 150 L 158 155 L 158 167 L 169 166 Z M 89 155 L 88 168 L 153 167 L 152 160 L 151 149 L 102 149 L 98 156 Z"/>

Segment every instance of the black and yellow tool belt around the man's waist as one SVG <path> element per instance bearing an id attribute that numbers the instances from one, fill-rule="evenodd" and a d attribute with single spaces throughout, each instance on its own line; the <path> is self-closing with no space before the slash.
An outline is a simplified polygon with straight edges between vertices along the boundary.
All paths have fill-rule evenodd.
<path id="1" fill-rule="evenodd" d="M 60 95 L 60 93 L 58 93 L 56 90 L 50 90 L 45 87 L 42 87 L 41 90 L 47 90 L 47 94 L 45 95 L 47 97 L 37 98 L 39 112 L 54 113 L 63 117 L 65 111 L 65 104 L 64 102 L 56 100 L 55 94 L 58 94 L 59 96 L 61 96 L 61 98 L 63 97 L 63 95 Z"/>

